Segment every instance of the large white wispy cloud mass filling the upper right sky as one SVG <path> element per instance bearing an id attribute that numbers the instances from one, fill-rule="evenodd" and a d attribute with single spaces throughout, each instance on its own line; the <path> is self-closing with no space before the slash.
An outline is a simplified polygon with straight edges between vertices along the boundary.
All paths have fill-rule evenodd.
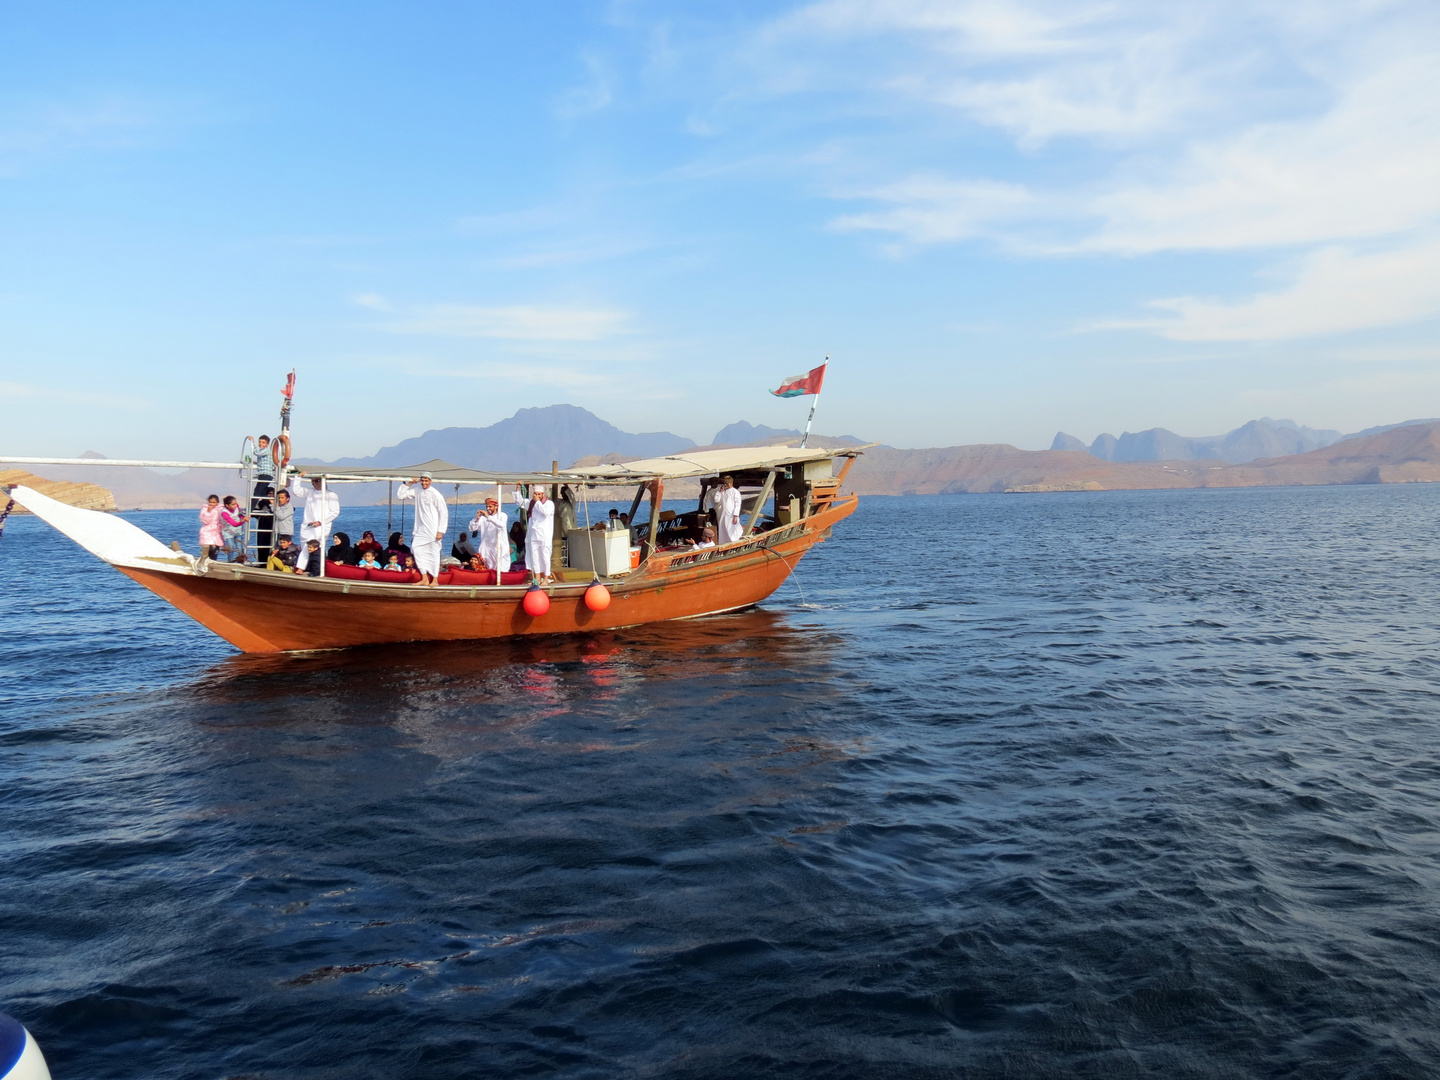
<path id="1" fill-rule="evenodd" d="M 1146 305 L 1162 315 L 1104 324 L 1184 341 L 1437 314 L 1433 4 L 818 0 L 759 26 L 737 58 L 739 98 L 829 95 L 893 120 L 888 153 L 851 138 L 829 168 L 867 179 L 828 189 L 858 203 L 831 228 L 888 233 L 891 253 L 1273 252 L 1270 278 L 1300 268 L 1282 289 L 1162 298 Z M 1012 153 L 963 154 L 978 131 Z M 968 160 L 916 164 L 945 156 Z"/>

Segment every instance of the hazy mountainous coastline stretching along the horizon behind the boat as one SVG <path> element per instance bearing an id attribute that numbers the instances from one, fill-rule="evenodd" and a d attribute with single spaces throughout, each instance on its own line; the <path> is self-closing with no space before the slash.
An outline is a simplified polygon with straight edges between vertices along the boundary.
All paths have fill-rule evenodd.
<path id="1" fill-rule="evenodd" d="M 793 442 L 798 435 L 737 420 L 721 428 L 711 446 Z M 854 435 L 811 436 L 811 445 L 816 446 L 860 444 Z M 1022 451 L 1007 444 L 873 446 L 860 458 L 845 487 L 863 495 L 950 495 L 1440 481 L 1440 420 L 1405 420 L 1341 435 L 1264 418 L 1218 436 L 1187 438 L 1152 428 L 1119 438 L 1102 435 L 1086 448 L 1061 432 L 1053 445 L 1048 451 Z M 1251 456 L 1257 449 L 1292 445 L 1310 448 Z M 629 461 L 693 449 L 707 446 L 696 446 L 693 439 L 672 432 L 624 432 L 579 406 L 552 405 L 520 409 L 487 428 L 429 431 L 367 458 L 334 462 L 301 458 L 300 464 L 395 468 L 442 458 L 469 468 L 544 469 L 552 461 L 564 468 L 602 458 Z M 1156 454 L 1171 456 L 1148 456 Z M 86 451 L 85 456 L 101 455 Z M 52 482 L 91 485 L 94 490 L 84 492 L 91 504 L 114 492 L 111 505 L 122 510 L 193 507 L 212 491 L 228 494 L 240 487 L 235 474 L 204 469 L 164 475 L 141 468 L 66 465 L 45 472 Z M 348 488 L 346 501 L 383 503 L 384 485 Z"/>

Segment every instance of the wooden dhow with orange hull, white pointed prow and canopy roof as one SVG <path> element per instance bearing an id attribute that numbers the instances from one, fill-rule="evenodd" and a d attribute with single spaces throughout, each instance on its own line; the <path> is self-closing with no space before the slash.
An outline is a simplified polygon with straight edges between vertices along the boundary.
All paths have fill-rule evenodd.
<path id="1" fill-rule="evenodd" d="M 749 608 L 770 596 L 805 553 L 854 513 L 858 497 L 840 491 L 864 449 L 742 446 L 539 474 L 485 472 L 444 461 L 403 469 L 308 469 L 310 478 L 325 485 L 396 482 L 429 472 L 441 487 L 520 488 L 528 495 L 544 485 L 552 498 L 563 488 L 585 497 L 595 488 L 635 485 L 631 521 L 642 504 L 648 505 L 648 520 L 635 526 L 638 564 L 631 566 L 626 557 L 616 566 L 598 556 L 596 546 L 606 547 L 611 530 L 582 526 L 566 534 L 570 569 L 563 580 L 546 586 L 549 603 L 530 605 L 526 585 L 399 585 L 336 577 L 336 570 L 310 577 L 194 557 L 122 517 L 71 507 L 24 485 L 9 491 L 22 507 L 238 649 L 289 652 L 576 634 Z M 721 475 L 732 475 L 742 492 L 750 492 L 743 503 L 742 536 L 719 547 L 691 547 L 685 539 L 698 531 L 700 504 L 667 511 L 665 485 L 674 490 L 681 481 L 698 481 L 704 491 Z M 694 491 L 696 485 L 684 487 Z M 622 544 L 628 556 L 628 531 Z M 596 582 L 603 596 L 590 592 Z M 530 613 L 540 608 L 546 611 Z"/>

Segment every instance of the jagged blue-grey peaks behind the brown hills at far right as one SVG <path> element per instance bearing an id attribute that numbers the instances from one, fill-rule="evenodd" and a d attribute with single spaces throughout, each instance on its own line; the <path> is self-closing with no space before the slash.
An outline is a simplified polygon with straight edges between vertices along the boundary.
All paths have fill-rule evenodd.
<path id="1" fill-rule="evenodd" d="M 1187 436 L 1176 435 L 1165 428 L 1151 428 L 1140 432 L 1125 432 L 1115 438 L 1109 432 L 1096 436 L 1094 442 L 1086 446 L 1074 435 L 1057 432 L 1053 451 L 1087 451 L 1102 461 L 1228 461 L 1238 465 L 1260 458 L 1282 458 L 1290 454 L 1309 454 L 1310 451 L 1333 446 L 1346 439 L 1359 439 L 1367 435 L 1380 435 L 1395 428 L 1417 423 L 1434 423 L 1430 420 L 1405 420 L 1404 423 L 1388 423 L 1380 428 L 1367 428 L 1352 435 L 1342 435 L 1338 431 L 1305 428 L 1295 420 L 1272 420 L 1264 416 L 1250 420 L 1224 435 Z"/>

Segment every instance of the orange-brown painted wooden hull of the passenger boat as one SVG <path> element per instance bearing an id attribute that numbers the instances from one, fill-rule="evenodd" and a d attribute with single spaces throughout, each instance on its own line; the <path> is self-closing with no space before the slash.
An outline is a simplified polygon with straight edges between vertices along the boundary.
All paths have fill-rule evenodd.
<path id="1" fill-rule="evenodd" d="M 662 552 L 611 582 L 611 606 L 585 606 L 589 582 L 557 585 L 550 611 L 524 613 L 524 588 L 423 586 L 320 580 L 215 563 L 203 576 L 117 567 L 243 652 L 289 652 L 399 641 L 468 641 L 575 634 L 684 619 L 759 603 L 831 526 L 850 497 L 793 526 L 701 553 Z"/>

